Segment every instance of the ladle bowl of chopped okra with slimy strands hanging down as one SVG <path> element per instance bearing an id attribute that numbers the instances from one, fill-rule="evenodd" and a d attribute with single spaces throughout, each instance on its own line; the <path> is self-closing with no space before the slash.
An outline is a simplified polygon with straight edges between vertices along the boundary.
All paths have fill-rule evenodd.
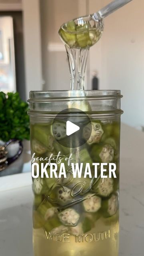
<path id="1" fill-rule="evenodd" d="M 103 20 L 91 16 L 71 20 L 63 24 L 59 35 L 65 43 L 70 69 L 70 90 L 84 90 L 84 76 L 89 48 L 102 35 Z"/>

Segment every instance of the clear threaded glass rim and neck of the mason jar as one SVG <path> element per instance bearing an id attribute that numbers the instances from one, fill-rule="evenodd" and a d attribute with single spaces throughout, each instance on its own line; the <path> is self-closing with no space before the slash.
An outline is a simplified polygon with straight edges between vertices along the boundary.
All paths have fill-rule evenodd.
<path id="1" fill-rule="evenodd" d="M 69 108 L 82 110 L 92 116 L 120 115 L 120 90 L 61 90 L 61 91 L 31 91 L 30 116 L 44 118 L 55 116 Z"/>

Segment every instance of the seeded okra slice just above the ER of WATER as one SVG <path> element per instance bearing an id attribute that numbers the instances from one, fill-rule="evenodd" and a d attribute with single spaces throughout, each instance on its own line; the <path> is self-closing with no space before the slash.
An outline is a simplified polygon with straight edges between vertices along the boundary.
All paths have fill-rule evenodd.
<path id="1" fill-rule="evenodd" d="M 114 159 L 114 148 L 110 144 L 104 145 L 99 154 L 103 163 L 110 163 Z"/>

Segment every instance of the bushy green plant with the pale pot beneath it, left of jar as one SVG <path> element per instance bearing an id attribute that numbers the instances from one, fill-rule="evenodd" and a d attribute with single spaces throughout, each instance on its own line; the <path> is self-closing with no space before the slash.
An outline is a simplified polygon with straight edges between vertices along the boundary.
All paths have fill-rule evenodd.
<path id="1" fill-rule="evenodd" d="M 22 141 L 30 139 L 28 109 L 28 103 L 21 100 L 18 92 L 0 92 L 0 145 L 8 152 L 9 165 L 0 176 L 22 170 Z"/>

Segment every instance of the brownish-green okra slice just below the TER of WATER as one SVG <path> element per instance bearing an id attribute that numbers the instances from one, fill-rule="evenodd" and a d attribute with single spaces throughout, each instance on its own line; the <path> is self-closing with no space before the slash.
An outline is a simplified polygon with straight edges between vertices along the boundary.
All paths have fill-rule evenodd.
<path id="1" fill-rule="evenodd" d="M 100 178 L 98 182 L 92 186 L 92 192 L 99 196 L 108 197 L 114 190 L 114 180 L 112 178 Z"/>

